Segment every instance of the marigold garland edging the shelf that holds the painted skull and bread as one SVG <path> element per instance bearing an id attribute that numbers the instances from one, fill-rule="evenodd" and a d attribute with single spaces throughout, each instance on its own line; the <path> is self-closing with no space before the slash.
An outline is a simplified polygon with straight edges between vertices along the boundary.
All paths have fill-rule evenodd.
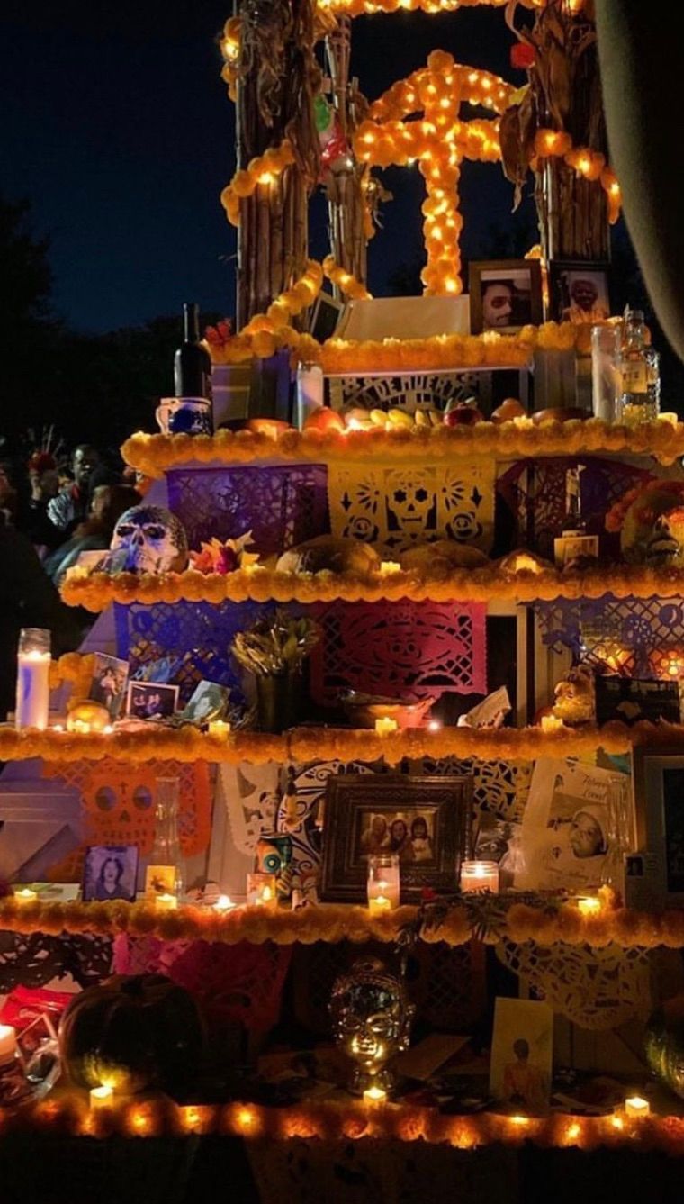
<path id="1" fill-rule="evenodd" d="M 455 568 L 444 576 L 418 569 L 385 577 L 355 573 L 282 573 L 261 566 L 222 573 L 87 573 L 72 568 L 61 585 L 69 606 L 94 613 L 112 602 L 123 606 L 164 602 L 489 602 L 493 597 L 515 602 L 552 602 L 555 598 L 676 597 L 684 595 L 683 568 L 617 565 L 562 573 L 556 568 L 502 572 L 496 563 L 484 568 Z"/>

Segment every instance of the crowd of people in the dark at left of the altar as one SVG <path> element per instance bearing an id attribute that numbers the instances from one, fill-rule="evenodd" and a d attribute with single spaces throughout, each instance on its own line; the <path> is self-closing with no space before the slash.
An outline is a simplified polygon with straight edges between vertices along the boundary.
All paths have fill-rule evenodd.
<path id="1" fill-rule="evenodd" d="M 0 720 L 14 707 L 22 627 L 47 627 L 53 656 L 78 648 L 93 616 L 66 607 L 59 584 L 83 551 L 110 547 L 140 492 L 96 448 L 79 443 L 60 466 L 45 452 L 0 460 Z"/>

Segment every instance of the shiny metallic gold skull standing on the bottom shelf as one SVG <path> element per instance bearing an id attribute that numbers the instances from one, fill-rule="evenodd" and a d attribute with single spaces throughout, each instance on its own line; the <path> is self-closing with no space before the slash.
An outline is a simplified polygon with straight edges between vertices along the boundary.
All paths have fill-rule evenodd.
<path id="1" fill-rule="evenodd" d="M 330 1016 L 335 1043 L 354 1063 L 349 1091 L 391 1090 L 388 1063 L 408 1047 L 414 1013 L 403 981 L 378 958 L 355 962 L 335 981 Z"/>

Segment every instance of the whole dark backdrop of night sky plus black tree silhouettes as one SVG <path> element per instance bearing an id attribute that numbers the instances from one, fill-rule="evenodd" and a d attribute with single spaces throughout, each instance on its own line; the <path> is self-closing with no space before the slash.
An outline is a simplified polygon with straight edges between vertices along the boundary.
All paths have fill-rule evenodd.
<path id="1" fill-rule="evenodd" d="M 152 429 L 155 401 L 172 388 L 182 302 L 197 300 L 206 320 L 234 313 L 235 230 L 219 200 L 235 166 L 218 49 L 229 16 L 226 0 L 5 0 L 0 431 L 13 438 L 31 423 L 107 444 Z M 436 47 L 523 83 L 512 41 L 489 7 L 378 14 L 354 22 L 352 67 L 370 99 Z M 419 293 L 423 181 L 415 169 L 382 178 L 395 199 L 370 247 L 370 287 Z M 466 264 L 537 241 L 531 190 L 514 216 L 512 205 L 497 165 L 464 166 Z M 319 195 L 312 253 L 325 249 Z M 613 275 L 614 311 L 648 305 L 621 225 Z M 667 368 L 678 361 L 664 365 L 664 408 L 674 408 Z"/>

